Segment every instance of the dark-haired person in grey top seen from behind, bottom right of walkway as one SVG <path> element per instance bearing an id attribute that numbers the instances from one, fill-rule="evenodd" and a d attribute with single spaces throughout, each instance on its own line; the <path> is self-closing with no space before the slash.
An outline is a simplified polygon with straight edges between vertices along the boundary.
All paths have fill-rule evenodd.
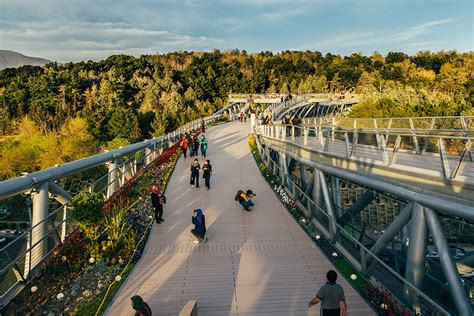
<path id="1" fill-rule="evenodd" d="M 327 282 L 316 294 L 316 296 L 308 303 L 308 307 L 321 302 L 322 316 L 347 316 L 347 304 L 344 296 L 344 289 L 336 284 L 337 273 L 329 270 L 326 274 Z"/>

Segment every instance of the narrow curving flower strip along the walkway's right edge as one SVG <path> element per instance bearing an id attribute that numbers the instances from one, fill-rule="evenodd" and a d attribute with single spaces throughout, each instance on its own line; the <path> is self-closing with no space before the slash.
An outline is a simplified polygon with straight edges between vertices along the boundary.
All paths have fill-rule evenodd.
<path id="1" fill-rule="evenodd" d="M 363 295 L 379 315 L 393 315 L 406 316 L 411 315 L 411 312 L 401 303 L 395 303 L 393 295 L 388 291 L 381 289 L 374 285 L 371 281 L 366 280 L 358 271 L 347 261 L 340 256 L 334 245 L 312 223 L 311 218 L 299 208 L 295 200 L 293 200 L 280 184 L 280 180 L 275 176 L 262 160 L 257 148 L 255 136 L 249 136 L 250 151 L 257 163 L 260 173 L 266 179 L 268 184 L 273 189 L 273 192 L 278 196 L 281 203 L 285 205 L 288 211 L 298 224 L 306 231 L 306 233 L 315 241 L 324 254 L 332 261 L 332 264 L 337 268 L 352 286 Z"/>

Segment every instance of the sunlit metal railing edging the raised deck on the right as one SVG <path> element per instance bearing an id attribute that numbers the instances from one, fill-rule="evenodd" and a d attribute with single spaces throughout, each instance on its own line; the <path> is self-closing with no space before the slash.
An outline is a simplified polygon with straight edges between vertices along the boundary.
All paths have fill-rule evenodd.
<path id="1" fill-rule="evenodd" d="M 458 135 L 372 130 L 338 130 L 334 126 L 259 126 L 263 135 L 309 146 L 341 158 L 363 161 L 384 167 L 408 169 L 414 173 L 441 176 L 445 180 L 474 183 L 474 134 Z M 463 134 L 465 134 L 463 136 Z M 423 156 L 422 163 L 420 158 Z M 408 167 L 408 169 L 407 169 Z"/>

